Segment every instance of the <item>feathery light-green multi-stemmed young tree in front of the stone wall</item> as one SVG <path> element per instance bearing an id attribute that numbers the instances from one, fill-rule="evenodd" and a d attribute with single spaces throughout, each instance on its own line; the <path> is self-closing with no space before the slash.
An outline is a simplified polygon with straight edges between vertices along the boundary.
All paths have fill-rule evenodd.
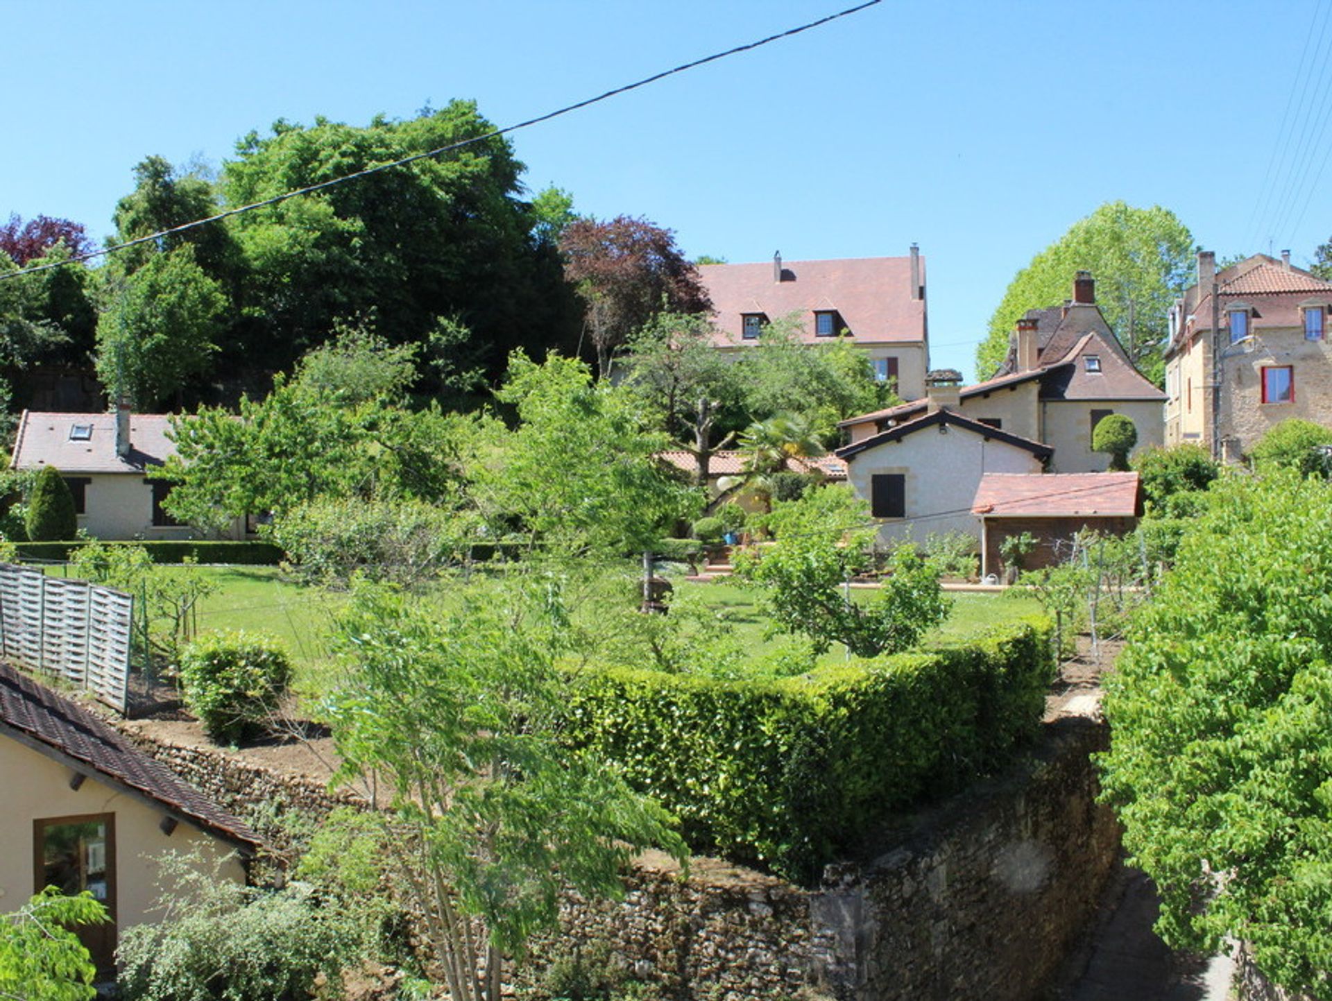
<path id="1" fill-rule="evenodd" d="M 388 851 L 460 1001 L 498 1001 L 503 953 L 554 922 L 563 885 L 614 896 L 635 849 L 683 853 L 665 811 L 557 743 L 563 623 L 549 579 L 468 591 L 442 612 L 366 587 L 340 620 L 338 775 L 392 792 Z"/>

